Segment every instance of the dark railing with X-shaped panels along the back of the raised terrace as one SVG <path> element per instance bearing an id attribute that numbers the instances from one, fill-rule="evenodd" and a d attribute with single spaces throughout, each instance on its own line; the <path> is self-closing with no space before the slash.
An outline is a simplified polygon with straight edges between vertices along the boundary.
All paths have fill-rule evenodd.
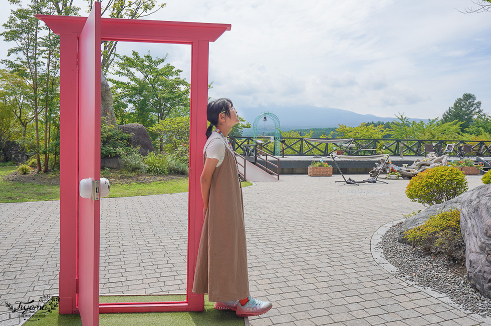
<path id="1" fill-rule="evenodd" d="M 262 151 L 274 154 L 275 141 L 271 137 L 257 137 L 264 141 Z M 433 140 L 433 139 L 362 139 L 355 138 L 350 147 L 338 147 L 332 143 L 323 143 L 306 140 L 303 137 L 282 137 L 285 139 L 284 154 L 298 156 L 329 156 L 336 150 L 343 150 L 348 155 L 373 155 L 377 152 L 388 153 L 394 156 L 424 156 L 424 144 L 431 143 L 434 146 L 441 145 L 444 149 L 447 144 L 455 143 L 453 155 L 455 155 L 459 145 L 472 145 L 471 153 L 479 156 L 491 156 L 491 140 Z M 336 138 L 333 138 L 336 139 Z M 278 140 L 278 139 L 276 139 Z M 237 152 L 245 153 L 244 145 L 254 144 L 256 141 L 253 137 L 230 136 L 232 147 Z M 402 153 L 401 153 L 402 151 Z"/>

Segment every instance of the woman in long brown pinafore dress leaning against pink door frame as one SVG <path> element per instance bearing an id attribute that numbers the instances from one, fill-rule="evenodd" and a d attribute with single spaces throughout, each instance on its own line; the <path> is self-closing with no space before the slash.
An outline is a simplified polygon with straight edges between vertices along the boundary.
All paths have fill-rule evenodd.
<path id="1" fill-rule="evenodd" d="M 201 174 L 203 229 L 199 241 L 194 293 L 208 293 L 220 310 L 234 310 L 240 317 L 263 314 L 273 304 L 249 293 L 246 227 L 242 186 L 232 146 L 226 138 L 239 122 L 228 98 L 208 103 L 210 125 L 206 130 Z M 213 131 L 212 128 L 215 126 Z"/>

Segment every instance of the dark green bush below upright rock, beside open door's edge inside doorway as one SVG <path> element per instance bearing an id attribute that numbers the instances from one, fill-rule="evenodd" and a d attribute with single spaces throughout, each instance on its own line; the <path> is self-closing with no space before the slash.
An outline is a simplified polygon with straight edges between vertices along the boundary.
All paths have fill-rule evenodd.
<path id="1" fill-rule="evenodd" d="M 104 117 L 103 120 L 105 122 L 101 123 L 101 157 L 117 156 L 121 151 L 130 152 L 131 135 L 109 124 L 107 117 Z"/>

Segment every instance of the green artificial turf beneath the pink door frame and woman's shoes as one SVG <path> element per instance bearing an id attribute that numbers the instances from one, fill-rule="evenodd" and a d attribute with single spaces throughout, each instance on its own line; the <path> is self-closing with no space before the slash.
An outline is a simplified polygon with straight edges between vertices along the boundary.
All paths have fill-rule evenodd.
<path id="1" fill-rule="evenodd" d="M 50 301 L 56 301 L 53 297 Z M 149 302 L 149 301 L 183 301 L 185 295 L 124 295 L 99 296 L 100 302 Z M 45 306 L 49 306 L 47 302 Z M 217 310 L 213 308 L 214 302 L 208 301 L 204 296 L 204 311 L 190 312 L 131 312 L 131 313 L 99 313 L 100 326 L 234 326 L 244 325 L 244 319 L 237 317 L 235 311 Z M 45 311 L 41 309 L 40 311 Z M 44 317 L 40 316 L 44 315 Z M 79 314 L 59 314 L 58 306 L 44 313 L 34 314 L 27 322 L 27 326 L 82 326 Z"/>

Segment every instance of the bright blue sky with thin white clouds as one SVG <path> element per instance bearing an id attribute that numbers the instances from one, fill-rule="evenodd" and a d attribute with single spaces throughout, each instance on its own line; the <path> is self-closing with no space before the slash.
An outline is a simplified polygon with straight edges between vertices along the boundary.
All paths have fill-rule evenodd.
<path id="1" fill-rule="evenodd" d="M 239 114 L 305 104 L 426 119 L 441 117 L 466 92 L 491 113 L 491 12 L 460 12 L 477 8 L 471 0 L 166 3 L 141 19 L 231 24 L 210 43 L 209 96 L 229 97 Z M 74 4 L 87 15 L 84 1 Z M 9 14 L 2 10 L 0 21 Z M 0 58 L 12 46 L 0 36 Z M 132 49 L 167 54 L 190 81 L 190 45 L 119 42 L 116 51 Z"/>

